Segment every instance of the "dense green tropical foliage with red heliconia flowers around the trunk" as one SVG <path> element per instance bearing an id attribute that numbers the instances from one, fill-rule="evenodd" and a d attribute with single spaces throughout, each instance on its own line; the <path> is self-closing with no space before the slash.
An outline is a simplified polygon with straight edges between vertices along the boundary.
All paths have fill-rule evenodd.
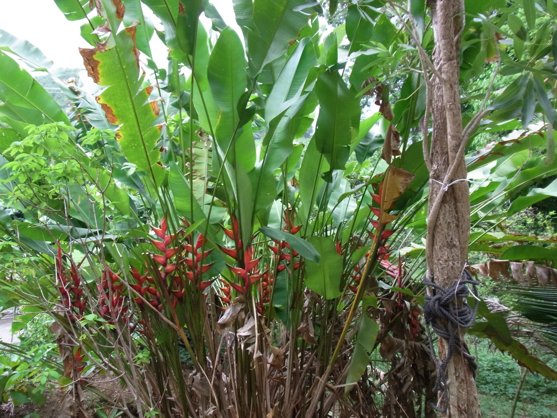
<path id="1" fill-rule="evenodd" d="M 130 417 L 435 416 L 426 2 L 234 0 L 242 33 L 201 0 L 55 3 L 83 23 L 98 88 L 2 32 L 0 306 L 25 313 L 14 331 L 53 318 L 61 361 L 9 348 L 25 366 L 2 362 L 4 401 L 40 402 L 57 380 L 85 417 L 102 373 Z M 323 6 L 345 23 L 321 27 Z M 516 280 L 517 298 L 509 314 L 471 297 L 469 332 L 557 380 L 522 344 L 557 344 L 555 239 L 506 226 L 557 196 L 531 187 L 557 174 L 554 6 L 466 1 L 458 36 L 470 250 L 492 257 L 469 269 Z M 67 113 L 22 63 L 51 74 Z M 47 375 L 27 376 L 40 356 Z"/>

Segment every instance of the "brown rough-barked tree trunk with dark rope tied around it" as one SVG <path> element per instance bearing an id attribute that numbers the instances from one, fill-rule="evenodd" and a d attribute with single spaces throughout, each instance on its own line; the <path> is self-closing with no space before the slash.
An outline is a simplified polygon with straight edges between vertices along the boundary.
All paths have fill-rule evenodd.
<path id="1" fill-rule="evenodd" d="M 429 4 L 429 2 L 428 2 Z M 466 178 L 466 164 L 458 149 L 463 140 L 459 93 L 460 30 L 463 2 L 438 0 L 429 4 L 432 9 L 435 49 L 433 64 L 443 80 L 434 77 L 432 95 L 433 134 L 431 143 L 432 170 L 429 181 L 429 213 L 439 193 L 444 177 L 457 161 L 456 170 L 447 183 Z M 430 216 L 431 217 L 431 216 Z M 428 254 L 428 270 L 435 281 L 445 288 L 461 277 L 470 238 L 470 195 L 466 181 L 452 184 L 444 192 L 437 220 L 428 240 L 433 242 Z M 447 344 L 439 338 L 439 357 L 446 356 Z M 467 361 L 455 355 L 447 368 L 450 405 L 446 416 L 453 418 L 481 417 L 476 383 Z M 445 400 L 446 401 L 446 400 Z"/>

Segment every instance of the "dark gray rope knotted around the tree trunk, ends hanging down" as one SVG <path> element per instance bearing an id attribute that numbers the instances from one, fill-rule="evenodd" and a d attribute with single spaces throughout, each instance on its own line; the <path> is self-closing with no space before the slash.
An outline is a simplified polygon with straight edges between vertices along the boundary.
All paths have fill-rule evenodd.
<path id="1" fill-rule="evenodd" d="M 449 390 L 447 383 L 447 366 L 453 354 L 461 354 L 468 362 L 473 376 L 476 377 L 478 366 L 476 357 L 470 354 L 470 350 L 466 342 L 460 337 L 460 330 L 470 328 L 476 319 L 478 304 L 472 309 L 466 303 L 466 297 L 473 294 L 476 298 L 478 291 L 476 286 L 479 281 L 472 280 L 472 276 L 467 270 L 463 270 L 462 278 L 450 288 L 445 289 L 432 280 L 424 279 L 423 283 L 433 288 L 433 296 L 426 295 L 423 305 L 423 315 L 426 319 L 426 329 L 429 337 L 429 348 L 433 361 L 437 366 L 437 379 L 433 391 L 442 391 L 444 397 L 444 408 L 433 405 L 433 408 L 439 412 L 447 412 L 449 406 Z M 467 284 L 472 285 L 472 290 Z M 462 303 L 457 303 L 458 299 L 463 299 Z M 447 357 L 439 362 L 433 346 L 433 337 L 431 328 L 441 338 L 447 342 Z"/>

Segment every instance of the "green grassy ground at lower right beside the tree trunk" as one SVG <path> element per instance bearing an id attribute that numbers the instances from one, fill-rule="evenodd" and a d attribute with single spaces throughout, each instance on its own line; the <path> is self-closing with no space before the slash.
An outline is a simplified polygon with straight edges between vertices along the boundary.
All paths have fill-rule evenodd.
<path id="1" fill-rule="evenodd" d="M 473 350 L 472 350 L 473 352 Z M 479 374 L 476 378 L 480 392 L 482 415 L 486 418 L 509 418 L 521 370 L 507 354 L 492 351 L 487 341 L 478 344 Z M 555 364 L 551 364 L 555 367 Z M 557 382 L 528 373 L 522 387 L 515 418 L 557 417 Z"/>

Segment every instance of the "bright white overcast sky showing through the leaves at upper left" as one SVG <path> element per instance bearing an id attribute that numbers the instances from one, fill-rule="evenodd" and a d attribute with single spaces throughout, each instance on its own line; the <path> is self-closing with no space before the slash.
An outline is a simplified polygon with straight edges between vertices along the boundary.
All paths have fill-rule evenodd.
<path id="1" fill-rule="evenodd" d="M 212 2 L 227 25 L 238 32 L 231 0 Z M 146 16 L 159 25 L 158 19 L 145 8 Z M 203 19 L 204 20 L 204 19 Z M 0 28 L 18 38 L 25 39 L 54 62 L 55 67 L 83 68 L 79 47 L 91 47 L 80 35 L 84 21 L 70 22 L 56 7 L 53 0 L 0 0 Z M 207 28 L 211 24 L 204 22 Z M 162 29 L 162 26 L 159 27 Z M 241 35 L 243 40 L 243 36 Z M 153 58 L 159 67 L 166 67 L 167 50 L 156 34 L 152 38 Z"/>

